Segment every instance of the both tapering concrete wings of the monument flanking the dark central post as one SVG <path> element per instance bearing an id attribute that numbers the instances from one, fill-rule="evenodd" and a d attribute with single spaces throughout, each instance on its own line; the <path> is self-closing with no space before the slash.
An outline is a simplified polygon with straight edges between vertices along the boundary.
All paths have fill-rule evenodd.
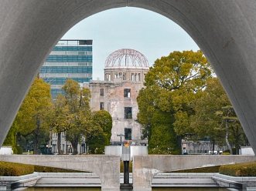
<path id="1" fill-rule="evenodd" d="M 101 179 L 102 190 L 119 190 L 120 186 L 120 156 L 9 155 L 0 156 L 0 161 L 93 172 Z M 133 188 L 151 190 L 153 177 L 159 173 L 251 161 L 256 161 L 256 156 L 134 156 Z"/>

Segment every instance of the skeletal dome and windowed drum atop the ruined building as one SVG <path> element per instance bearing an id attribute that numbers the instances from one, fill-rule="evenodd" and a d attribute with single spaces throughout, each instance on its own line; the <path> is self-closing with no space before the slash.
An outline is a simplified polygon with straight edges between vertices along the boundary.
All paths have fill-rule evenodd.
<path id="1" fill-rule="evenodd" d="M 148 59 L 134 49 L 119 49 L 111 53 L 105 62 L 105 81 L 144 82 L 148 72 Z"/>

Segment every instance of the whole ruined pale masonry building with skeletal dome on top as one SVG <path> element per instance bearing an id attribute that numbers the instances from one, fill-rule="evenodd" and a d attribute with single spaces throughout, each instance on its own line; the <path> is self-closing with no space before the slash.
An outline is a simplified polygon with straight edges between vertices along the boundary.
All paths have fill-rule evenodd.
<path id="1" fill-rule="evenodd" d="M 147 72 L 148 60 L 142 53 L 120 49 L 111 53 L 105 62 L 104 81 L 89 83 L 92 110 L 104 109 L 112 116 L 112 144 L 120 144 L 121 139 L 134 145 L 147 144 L 147 140 L 141 139 L 142 126 L 136 122 L 136 99 Z"/>

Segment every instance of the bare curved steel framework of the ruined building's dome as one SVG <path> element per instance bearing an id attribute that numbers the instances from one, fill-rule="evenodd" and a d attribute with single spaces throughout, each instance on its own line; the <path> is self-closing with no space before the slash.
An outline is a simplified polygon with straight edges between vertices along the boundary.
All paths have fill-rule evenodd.
<path id="1" fill-rule="evenodd" d="M 105 62 L 105 67 L 116 66 L 148 67 L 148 59 L 134 49 L 119 49 L 108 55 Z"/>

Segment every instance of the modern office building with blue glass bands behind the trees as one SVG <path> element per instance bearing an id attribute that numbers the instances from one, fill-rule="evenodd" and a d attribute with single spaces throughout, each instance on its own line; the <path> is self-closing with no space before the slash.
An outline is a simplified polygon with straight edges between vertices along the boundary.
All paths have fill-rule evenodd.
<path id="1" fill-rule="evenodd" d="M 56 99 L 63 94 L 67 79 L 90 82 L 92 62 L 92 40 L 60 40 L 40 69 L 39 77 L 51 85 L 52 98 Z"/>

